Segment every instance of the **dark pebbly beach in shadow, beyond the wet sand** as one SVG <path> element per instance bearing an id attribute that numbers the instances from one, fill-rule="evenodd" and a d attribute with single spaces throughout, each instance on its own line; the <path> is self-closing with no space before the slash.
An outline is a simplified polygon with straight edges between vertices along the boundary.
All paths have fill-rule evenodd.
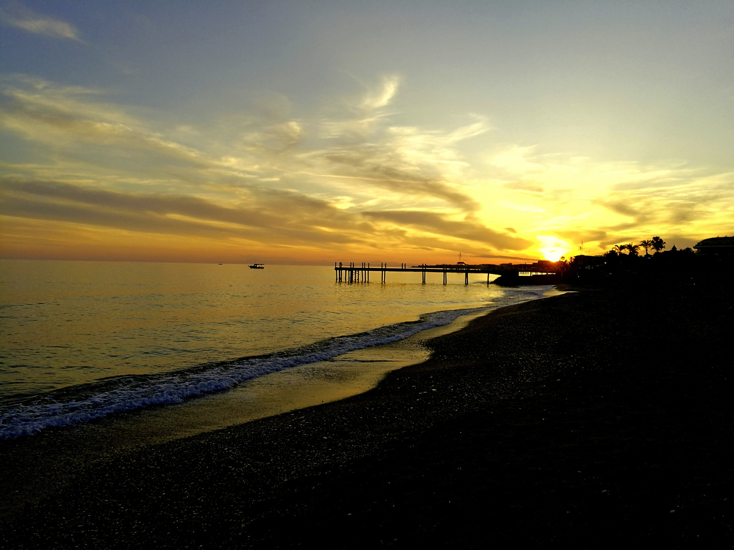
<path id="1" fill-rule="evenodd" d="M 365 394 L 97 463 L 3 546 L 731 547 L 727 282 L 499 309 Z"/>

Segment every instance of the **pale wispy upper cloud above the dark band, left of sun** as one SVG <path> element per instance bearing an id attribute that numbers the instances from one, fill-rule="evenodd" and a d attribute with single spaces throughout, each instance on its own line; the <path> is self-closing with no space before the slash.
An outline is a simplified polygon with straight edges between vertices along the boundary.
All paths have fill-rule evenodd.
<path id="1" fill-rule="evenodd" d="M 392 82 L 385 86 L 391 89 L 388 84 Z M 387 97 L 385 94 L 380 97 Z M 341 187 L 338 195 L 344 195 L 349 180 L 358 180 L 361 186 L 390 191 L 404 205 L 408 200 L 414 206 L 427 201 L 466 212 L 479 208 L 462 189 L 468 165 L 454 147 L 462 139 L 486 131 L 486 122 L 476 117 L 468 125 L 440 132 L 390 125 L 388 117 L 378 112 L 374 127 L 358 136 L 352 131 L 363 126 L 363 119 L 333 118 L 322 121 L 321 127 L 329 128 L 327 143 L 336 143 L 304 150 L 307 124 L 284 119 L 282 109 L 276 114 L 263 111 L 239 120 L 233 117 L 228 128 L 239 125 L 239 135 L 229 136 L 226 142 L 217 136 L 216 141 L 209 139 L 207 143 L 207 136 L 192 131 L 190 125 L 183 125 L 186 132 L 181 132 L 181 124 L 175 125 L 167 136 L 152 126 L 150 119 L 143 122 L 119 106 L 97 100 L 104 95 L 101 90 L 57 87 L 40 79 L 16 77 L 4 85 L 3 95 L 0 125 L 31 142 L 46 143 L 57 152 L 74 151 L 96 164 L 131 164 L 132 159 L 145 156 L 150 161 L 137 161 L 133 169 L 148 162 L 155 166 L 151 169 L 160 172 L 161 160 L 167 159 L 170 166 L 181 164 L 175 169 L 179 175 L 181 167 L 188 169 L 189 180 L 201 177 L 192 169 L 208 170 L 210 177 L 218 170 L 219 180 L 228 172 L 234 178 L 301 180 L 305 185 L 306 177 L 312 184 Z M 373 103 L 381 104 L 377 100 Z M 197 141 L 200 147 L 183 144 L 181 139 Z M 311 139 L 310 143 L 318 142 Z M 217 150 L 221 154 L 213 154 Z"/>

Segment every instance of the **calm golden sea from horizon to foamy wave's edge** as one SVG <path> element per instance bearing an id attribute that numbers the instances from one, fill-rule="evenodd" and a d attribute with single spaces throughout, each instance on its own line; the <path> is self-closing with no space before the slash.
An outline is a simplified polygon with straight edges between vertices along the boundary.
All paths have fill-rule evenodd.
<path id="1" fill-rule="evenodd" d="M 547 290 L 374 275 L 348 285 L 320 266 L 1 260 L 0 437 L 178 403 Z"/>

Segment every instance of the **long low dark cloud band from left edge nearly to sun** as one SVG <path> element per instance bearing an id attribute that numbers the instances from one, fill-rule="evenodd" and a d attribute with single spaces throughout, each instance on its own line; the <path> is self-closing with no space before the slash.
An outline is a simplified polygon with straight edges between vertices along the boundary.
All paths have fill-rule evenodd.
<path id="1" fill-rule="evenodd" d="M 239 202 L 221 205 L 190 195 L 126 193 L 6 176 L 0 179 L 0 216 L 11 233 L 21 220 L 32 220 L 264 249 L 362 249 L 382 255 L 421 248 L 453 253 L 461 241 L 465 252 L 489 256 L 495 249 L 530 244 L 471 219 L 418 211 L 359 213 L 296 192 L 256 186 L 244 190 Z"/>

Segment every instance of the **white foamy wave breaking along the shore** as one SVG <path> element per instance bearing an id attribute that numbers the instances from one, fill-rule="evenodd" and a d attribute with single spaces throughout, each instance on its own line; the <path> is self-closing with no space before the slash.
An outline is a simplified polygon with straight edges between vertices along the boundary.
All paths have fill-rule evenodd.
<path id="1" fill-rule="evenodd" d="M 288 367 L 333 359 L 343 353 L 404 340 L 420 331 L 451 323 L 461 315 L 489 311 L 520 301 L 542 297 L 541 288 L 526 288 L 509 293 L 502 304 L 490 304 L 471 309 L 451 309 L 421 315 L 418 320 L 382 326 L 377 329 L 333 337 L 268 356 L 246 357 L 232 362 L 199 367 L 175 375 L 123 376 L 103 381 L 105 391 L 92 392 L 73 398 L 69 389 L 45 395 L 25 405 L 12 406 L 0 414 L 0 439 L 32 435 L 52 426 L 68 426 L 87 422 L 107 414 L 131 411 L 151 405 L 181 403 L 190 397 L 230 389 L 241 382 L 275 373 Z M 211 367 L 211 368 L 207 368 Z M 91 384 L 95 389 L 98 385 Z M 73 388 L 70 391 L 74 391 Z M 83 390 L 82 390 L 83 391 Z M 66 396 L 67 398 L 62 398 Z"/>

